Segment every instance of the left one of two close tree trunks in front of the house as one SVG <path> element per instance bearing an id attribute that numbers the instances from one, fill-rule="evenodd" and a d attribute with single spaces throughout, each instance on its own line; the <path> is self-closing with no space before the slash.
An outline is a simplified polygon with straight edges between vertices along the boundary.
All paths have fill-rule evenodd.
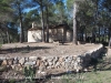
<path id="1" fill-rule="evenodd" d="M 42 4 L 42 0 L 41 0 L 41 24 L 42 24 L 42 42 L 46 42 L 46 38 L 44 38 L 44 20 L 43 20 L 43 4 Z"/>

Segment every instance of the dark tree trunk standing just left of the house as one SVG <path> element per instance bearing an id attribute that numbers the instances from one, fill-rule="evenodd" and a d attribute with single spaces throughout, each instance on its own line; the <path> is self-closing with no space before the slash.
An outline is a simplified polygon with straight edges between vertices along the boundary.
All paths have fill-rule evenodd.
<path id="1" fill-rule="evenodd" d="M 23 38 L 23 27 L 22 27 L 22 15 L 21 15 L 21 8 L 19 4 L 19 19 L 20 19 L 20 43 L 23 42 L 24 38 Z"/>

